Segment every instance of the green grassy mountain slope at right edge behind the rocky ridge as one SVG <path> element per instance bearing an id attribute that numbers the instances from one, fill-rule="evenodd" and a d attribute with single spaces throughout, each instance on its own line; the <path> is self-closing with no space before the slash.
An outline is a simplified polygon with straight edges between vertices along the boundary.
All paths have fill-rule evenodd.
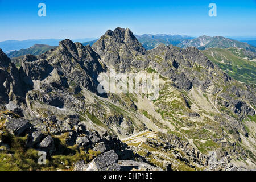
<path id="1" fill-rule="evenodd" d="M 243 59 L 242 57 L 245 55 L 240 51 L 240 49 L 236 48 L 209 48 L 203 53 L 231 77 L 238 81 L 255 85 L 256 62 Z"/>

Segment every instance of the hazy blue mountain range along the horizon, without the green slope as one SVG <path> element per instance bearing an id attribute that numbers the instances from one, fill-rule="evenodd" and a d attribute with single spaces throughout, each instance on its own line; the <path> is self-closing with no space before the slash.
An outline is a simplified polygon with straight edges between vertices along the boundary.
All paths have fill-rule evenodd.
<path id="1" fill-rule="evenodd" d="M 209 47 L 219 47 L 219 48 L 228 48 L 228 47 L 241 47 L 249 50 L 250 46 L 256 46 L 256 38 L 233 38 L 228 39 L 221 36 L 200 36 L 199 38 L 193 38 L 187 35 L 168 35 L 168 34 L 144 34 L 144 35 L 135 35 L 135 37 L 142 43 L 142 46 L 147 49 L 153 49 L 160 44 L 165 45 L 174 45 L 181 48 L 195 46 L 199 49 L 205 49 Z M 49 46 L 58 46 L 59 42 L 62 39 L 35 39 L 35 40 L 7 40 L 0 42 L 0 47 L 3 52 L 10 53 L 13 51 L 19 51 L 20 49 L 27 49 L 35 44 L 45 44 Z M 85 39 L 74 39 L 73 42 L 81 42 L 84 46 L 92 46 L 98 39 L 96 38 L 85 38 Z M 239 41 L 238 41 L 239 40 Z M 210 43 L 209 43 L 210 42 Z M 221 43 L 220 43 L 221 42 Z M 217 44 L 216 44 L 217 43 Z M 220 43 L 220 44 L 218 44 Z M 249 44 L 249 46 L 247 44 Z M 255 47 L 253 48 L 255 50 Z M 250 50 L 251 51 L 251 50 Z"/>

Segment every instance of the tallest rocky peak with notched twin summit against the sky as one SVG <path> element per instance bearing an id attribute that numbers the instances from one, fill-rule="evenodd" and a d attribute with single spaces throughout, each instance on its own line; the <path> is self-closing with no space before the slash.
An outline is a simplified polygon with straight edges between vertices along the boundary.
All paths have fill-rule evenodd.
<path id="1" fill-rule="evenodd" d="M 130 69 L 133 64 L 142 64 L 138 59 L 144 60 L 143 57 L 147 53 L 129 28 L 115 28 L 114 31 L 106 31 L 93 44 L 92 49 L 100 55 L 102 61 L 108 62 L 119 71 Z"/>

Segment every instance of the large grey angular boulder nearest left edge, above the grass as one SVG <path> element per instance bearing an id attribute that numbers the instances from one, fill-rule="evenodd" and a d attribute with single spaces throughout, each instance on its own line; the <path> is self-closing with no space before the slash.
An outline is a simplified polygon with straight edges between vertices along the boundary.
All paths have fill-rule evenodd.
<path id="1" fill-rule="evenodd" d="M 5 125 L 6 125 L 6 129 L 11 134 L 16 136 L 22 135 L 31 126 L 31 124 L 26 119 L 14 119 L 14 118 L 7 119 Z"/>

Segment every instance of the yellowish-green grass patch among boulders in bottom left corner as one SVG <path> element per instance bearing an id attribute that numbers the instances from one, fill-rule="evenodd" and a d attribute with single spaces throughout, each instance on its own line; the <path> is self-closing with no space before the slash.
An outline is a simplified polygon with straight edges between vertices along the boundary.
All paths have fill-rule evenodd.
<path id="1" fill-rule="evenodd" d="M 79 160 L 85 163 L 92 161 L 100 152 L 80 150 L 77 146 L 65 144 L 65 136 L 53 137 L 56 152 L 51 157 L 47 156 L 46 165 L 38 164 L 38 151 L 26 148 L 27 136 L 15 137 L 3 130 L 1 140 L 10 146 L 9 149 L 0 151 L 0 171 L 44 171 L 44 170 L 72 170 L 73 164 Z M 67 166 L 67 167 L 65 167 Z"/>

